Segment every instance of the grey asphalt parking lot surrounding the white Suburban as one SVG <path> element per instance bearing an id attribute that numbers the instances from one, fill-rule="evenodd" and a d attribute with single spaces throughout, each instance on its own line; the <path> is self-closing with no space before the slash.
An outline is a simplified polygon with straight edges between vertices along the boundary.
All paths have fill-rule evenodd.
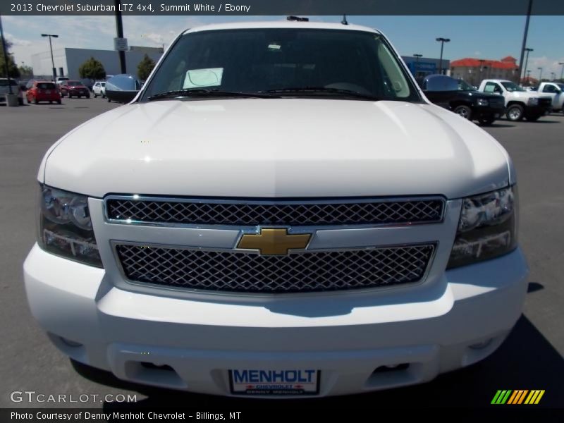
<path id="1" fill-rule="evenodd" d="M 46 394 L 136 394 L 138 405 L 269 406 L 268 400 L 218 398 L 125 383 L 71 362 L 49 343 L 30 315 L 22 263 L 35 242 L 37 168 L 61 135 L 103 111 L 105 99 L 63 99 L 57 104 L 0 106 L 0 407 L 106 407 L 87 403 L 13 403 L 12 391 Z M 544 389 L 540 406 L 564 403 L 564 116 L 534 123 L 496 121 L 486 130 L 508 149 L 517 168 L 520 243 L 531 273 L 525 312 L 501 348 L 484 362 L 428 384 L 342 398 L 300 401 L 300 406 L 489 405 L 498 389 Z M 295 401 L 288 404 L 295 405 Z"/>

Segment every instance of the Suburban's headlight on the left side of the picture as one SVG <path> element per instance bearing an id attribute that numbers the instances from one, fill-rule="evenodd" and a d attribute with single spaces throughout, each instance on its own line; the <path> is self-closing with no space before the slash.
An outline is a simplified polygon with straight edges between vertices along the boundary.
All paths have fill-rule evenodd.
<path id="1" fill-rule="evenodd" d="M 37 243 L 53 254 L 102 267 L 84 195 L 39 185 Z"/>

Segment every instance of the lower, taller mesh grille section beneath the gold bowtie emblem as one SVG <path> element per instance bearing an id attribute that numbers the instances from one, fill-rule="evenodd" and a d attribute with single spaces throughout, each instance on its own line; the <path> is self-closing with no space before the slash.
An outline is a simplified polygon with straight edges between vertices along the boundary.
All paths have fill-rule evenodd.
<path id="1" fill-rule="evenodd" d="M 262 256 L 145 245 L 116 245 L 130 281 L 245 293 L 350 290 L 422 279 L 434 245 Z"/>

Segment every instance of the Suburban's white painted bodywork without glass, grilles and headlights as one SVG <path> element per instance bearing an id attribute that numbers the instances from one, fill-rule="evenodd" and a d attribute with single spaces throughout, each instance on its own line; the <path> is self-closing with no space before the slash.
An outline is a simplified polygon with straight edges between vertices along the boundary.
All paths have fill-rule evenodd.
<path id="1" fill-rule="evenodd" d="M 209 28 L 236 25 L 374 32 L 314 23 Z M 446 271 L 461 198 L 515 183 L 508 154 L 484 130 L 430 103 L 132 103 L 56 142 L 38 179 L 90 197 L 104 269 L 36 245 L 24 264 L 32 313 L 63 353 L 121 379 L 229 395 L 228 369 L 312 367 L 321 370 L 321 396 L 391 388 L 482 360 L 520 317 L 527 265 L 519 249 Z M 109 193 L 441 195 L 446 214 L 428 225 L 312 229 L 308 249 L 436 241 L 427 277 L 416 285 L 283 295 L 140 292 L 124 280 L 111 240 L 233 248 L 240 230 L 110 223 L 102 200 Z M 470 348 L 484 341 L 490 341 L 484 348 Z M 147 361 L 168 364 L 173 372 L 140 366 Z M 373 374 L 400 363 L 410 367 Z"/>

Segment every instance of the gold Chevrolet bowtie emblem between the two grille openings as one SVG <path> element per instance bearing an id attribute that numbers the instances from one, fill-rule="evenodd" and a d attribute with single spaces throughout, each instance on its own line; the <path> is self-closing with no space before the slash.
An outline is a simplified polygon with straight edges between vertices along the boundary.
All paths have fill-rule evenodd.
<path id="1" fill-rule="evenodd" d="M 238 248 L 259 250 L 262 255 L 285 255 L 293 248 L 305 248 L 310 233 L 290 235 L 287 229 L 262 229 L 258 235 L 246 234 L 241 237 Z"/>

